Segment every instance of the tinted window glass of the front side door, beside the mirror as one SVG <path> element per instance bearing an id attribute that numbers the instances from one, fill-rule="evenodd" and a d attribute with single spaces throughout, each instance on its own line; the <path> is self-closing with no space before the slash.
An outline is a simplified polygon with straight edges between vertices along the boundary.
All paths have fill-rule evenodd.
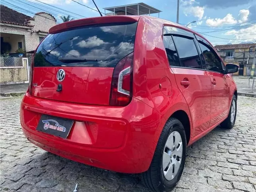
<path id="1" fill-rule="evenodd" d="M 209 45 L 200 40 L 198 43 L 203 53 L 206 69 L 215 72 L 222 72 L 221 61 L 215 51 Z"/>

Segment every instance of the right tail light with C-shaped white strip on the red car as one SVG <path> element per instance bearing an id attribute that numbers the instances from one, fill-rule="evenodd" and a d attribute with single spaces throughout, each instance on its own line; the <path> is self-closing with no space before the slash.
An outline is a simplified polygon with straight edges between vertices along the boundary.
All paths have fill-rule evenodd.
<path id="1" fill-rule="evenodd" d="M 111 84 L 110 105 L 125 106 L 132 98 L 133 53 L 116 65 Z"/>

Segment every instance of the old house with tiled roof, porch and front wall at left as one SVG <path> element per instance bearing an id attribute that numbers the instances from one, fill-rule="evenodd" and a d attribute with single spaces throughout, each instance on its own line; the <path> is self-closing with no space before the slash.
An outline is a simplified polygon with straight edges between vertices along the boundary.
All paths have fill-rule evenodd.
<path id="1" fill-rule="evenodd" d="M 38 12 L 30 17 L 1 5 L 1 85 L 28 82 L 32 54 L 26 53 L 33 53 L 56 23 L 56 19 L 49 13 Z"/>

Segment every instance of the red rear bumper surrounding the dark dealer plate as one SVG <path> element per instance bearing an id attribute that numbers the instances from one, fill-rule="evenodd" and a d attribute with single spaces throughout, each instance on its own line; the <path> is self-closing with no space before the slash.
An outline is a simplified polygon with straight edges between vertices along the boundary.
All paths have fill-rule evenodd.
<path id="1" fill-rule="evenodd" d="M 36 130 L 41 114 L 74 120 L 66 139 Z M 146 171 L 164 118 L 133 98 L 125 107 L 59 102 L 24 96 L 21 125 L 38 147 L 88 165 L 124 173 Z"/>

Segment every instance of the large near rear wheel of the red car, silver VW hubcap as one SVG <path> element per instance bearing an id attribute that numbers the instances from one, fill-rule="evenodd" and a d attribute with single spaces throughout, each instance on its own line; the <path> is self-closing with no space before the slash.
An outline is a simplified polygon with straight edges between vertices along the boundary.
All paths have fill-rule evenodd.
<path id="1" fill-rule="evenodd" d="M 183 172 L 186 147 L 182 123 L 175 118 L 168 119 L 159 137 L 151 165 L 142 173 L 142 182 L 156 192 L 172 190 Z"/>

